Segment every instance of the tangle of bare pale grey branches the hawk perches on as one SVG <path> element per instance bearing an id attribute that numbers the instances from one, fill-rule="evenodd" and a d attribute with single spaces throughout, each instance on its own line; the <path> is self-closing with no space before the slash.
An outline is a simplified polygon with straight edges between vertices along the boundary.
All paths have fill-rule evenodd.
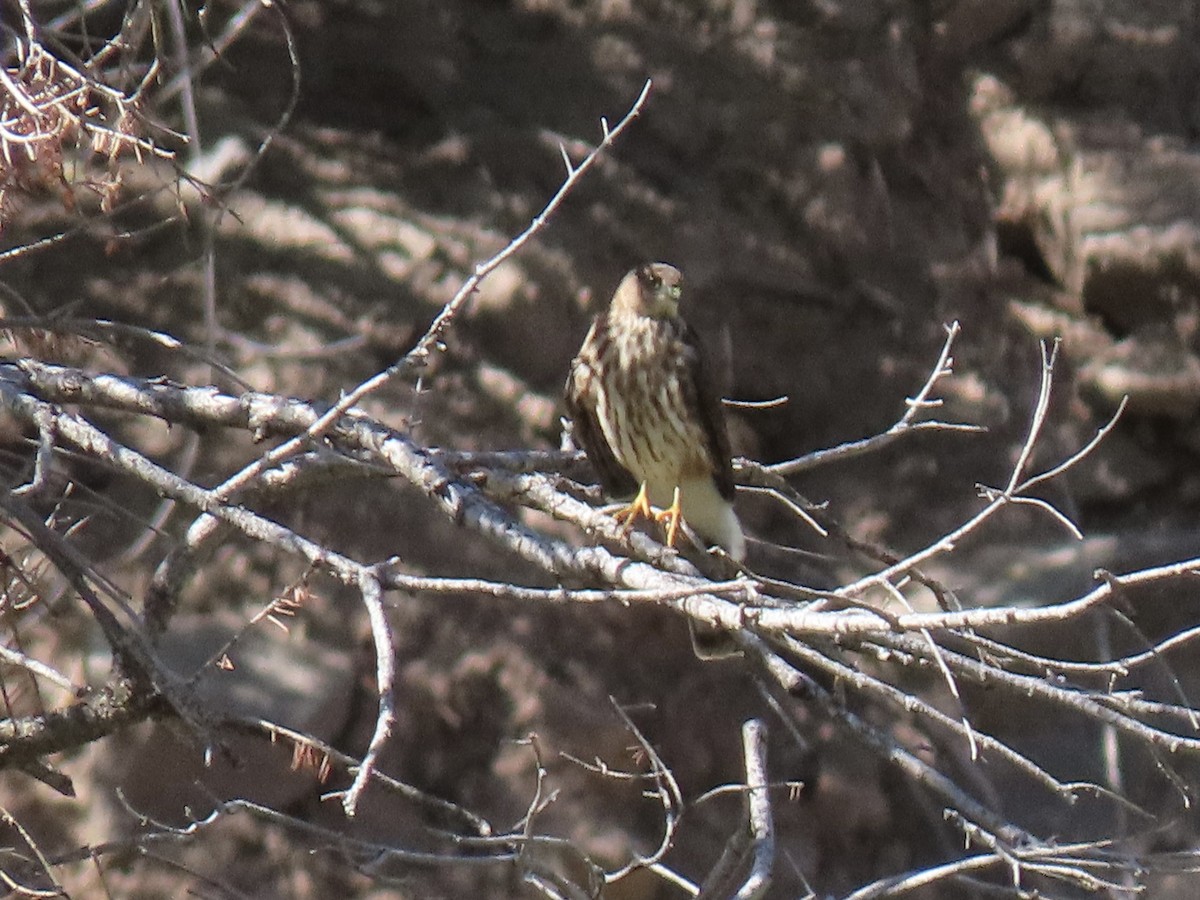
<path id="1" fill-rule="evenodd" d="M 88 148 L 106 156 L 109 188 L 119 184 L 121 150 L 157 152 L 145 138 L 138 115 L 139 95 L 155 83 L 146 67 L 131 92 L 104 88 L 94 76 L 52 55 L 36 42 L 31 19 L 18 36 L 14 65 L 0 72 L 6 89 L 0 108 L 0 150 L 5 175 L 0 206 L 8 192 L 62 182 L 65 156 Z M 149 25 L 146 25 L 149 26 Z M 103 62 L 102 54 L 91 65 Z M 348 836 L 338 829 L 302 821 L 277 809 L 235 798 L 211 798 L 206 812 L 193 812 L 186 826 L 156 822 L 136 809 L 131 818 L 142 829 L 132 838 L 70 851 L 46 851 L 12 816 L 7 824 L 20 835 L 22 848 L 2 865 L 10 889 L 49 895 L 60 887 L 56 872 L 83 859 L 115 857 L 131 848 L 150 853 L 158 846 L 194 840 L 217 823 L 248 816 L 289 830 L 316 847 L 335 852 L 347 865 L 372 878 L 403 878 L 413 868 L 506 866 L 546 896 L 595 896 L 604 886 L 648 871 L 685 895 L 763 896 L 773 872 L 786 857 L 774 824 L 776 804 L 797 785 L 773 779 L 766 752 L 768 727 L 799 730 L 802 710 L 818 714 L 901 775 L 914 792 L 942 812 L 958 833 L 954 854 L 932 866 L 895 872 L 864 883 L 848 898 L 898 896 L 932 884 L 994 890 L 1012 896 L 1070 895 L 1068 892 L 1134 890 L 1148 869 L 1190 871 L 1194 860 L 1181 853 L 1146 852 L 1128 835 L 1165 827 L 1162 810 L 1140 808 L 1115 780 L 1063 776 L 1036 750 L 1019 745 L 973 719 L 982 692 L 1012 708 L 1036 706 L 1063 721 L 1108 736 L 1121 754 L 1153 760 L 1147 778 L 1176 792 L 1178 815 L 1190 804 L 1190 768 L 1200 754 L 1196 712 L 1170 660 L 1190 652 L 1200 623 L 1146 638 L 1135 650 L 1073 659 L 1027 649 L 1030 635 L 1050 629 L 1080 628 L 1097 618 L 1126 628 L 1124 604 L 1132 592 L 1152 584 L 1193 580 L 1200 559 L 1128 574 L 1098 571 L 1093 589 L 1066 601 L 1026 598 L 1006 605 L 979 605 L 929 572 L 954 571 L 960 547 L 985 534 L 994 520 L 1016 509 L 1032 509 L 1079 536 L 1070 518 L 1044 499 L 1045 485 L 1086 458 L 1114 427 L 1100 428 L 1075 452 L 1036 469 L 1033 460 L 1050 412 L 1056 347 L 1042 348 L 1040 390 L 1028 410 L 1027 428 L 1002 484 L 978 487 L 977 509 L 958 527 L 902 557 L 856 540 L 828 509 L 810 504 L 791 478 L 828 463 L 848 461 L 881 446 L 932 431 L 950 439 L 956 431 L 976 431 L 970 422 L 941 421 L 938 390 L 954 376 L 959 325 L 950 324 L 940 358 L 924 385 L 902 403 L 902 413 L 886 432 L 828 451 L 775 464 L 739 460 L 739 487 L 778 503 L 803 528 L 812 529 L 842 558 L 854 575 L 829 588 L 760 574 L 727 559 L 680 554 L 653 535 L 629 533 L 595 502 L 590 473 L 577 454 L 545 449 L 468 451 L 433 446 L 415 430 L 392 427 L 371 414 L 366 401 L 385 385 L 415 384 L 434 358 L 446 353 L 448 336 L 470 314 L 479 286 L 502 264 L 548 227 L 559 205 L 634 126 L 643 113 L 650 84 L 612 126 L 601 121 L 598 143 L 577 161 L 564 150 L 565 178 L 529 227 L 499 253 L 480 262 L 461 288 L 431 318 L 401 359 L 334 402 L 253 391 L 230 391 L 206 383 L 175 383 L 121 372 L 92 371 L 38 359 L 0 361 L 0 406 L 19 425 L 22 451 L 10 456 L 0 494 L 6 533 L 2 557 L 2 616 L 6 716 L 0 721 L 0 768 L 36 779 L 61 793 L 72 790 L 56 760 L 62 754 L 101 742 L 148 719 L 164 719 L 211 752 L 221 752 L 233 734 L 252 734 L 294 748 L 294 764 L 318 770 L 320 778 L 346 778 L 337 793 L 346 816 L 354 816 L 368 786 L 397 803 L 413 804 L 439 826 L 421 846 L 398 846 Z M 70 328 L 40 322 L 38 328 Z M 31 328 L 10 320 L 14 332 Z M 112 337 L 94 323 L 89 340 Z M 167 347 L 174 338 L 150 331 L 137 336 Z M 967 335 L 970 340 L 970 335 Z M 422 389 L 438 390 L 437 379 Z M 1118 413 L 1120 414 L 1120 413 Z M 166 422 L 197 433 L 236 433 L 265 445 L 248 463 L 222 472 L 215 484 L 184 466 L 157 461 L 146 448 L 119 434 L 114 422 Z M 113 473 L 132 498 L 161 498 L 185 510 L 188 521 L 175 532 L 170 548 L 145 565 L 143 589 L 133 595 L 124 578 L 88 556 L 71 522 L 60 517 L 68 466 Z M 413 571 L 397 547 L 389 559 L 359 559 L 340 552 L 266 510 L 301 496 L 314 481 L 396 479 L 406 482 L 430 510 L 460 529 L 463 541 L 488 542 L 517 570 L 539 572 L 530 583 L 464 575 Z M 131 503 L 132 506 L 132 503 Z M 534 511 L 538 515 L 529 515 Z M 569 527 L 564 528 L 563 524 Z M 196 572 L 214 565 L 227 542 L 269 548 L 299 563 L 305 575 L 250 619 L 282 623 L 302 608 L 311 578 L 331 578 L 354 592 L 370 623 L 374 670 L 374 725 L 366 752 L 346 755 L 313 734 L 283 722 L 229 713 L 208 704 L 196 690 L 196 674 L 184 677 L 166 665 L 161 642 L 169 634 L 181 596 Z M 661 840 L 619 865 L 604 865 L 566 839 L 544 830 L 540 818 L 554 802 L 536 738 L 529 740 L 538 781 L 527 814 L 511 826 L 488 822 L 481 814 L 404 784 L 379 768 L 396 722 L 395 634 L 389 604 L 403 598 L 438 596 L 446 604 L 462 598 L 504 599 L 558 607 L 610 605 L 658 606 L 691 623 L 726 632 L 740 654 L 736 665 L 757 680 L 774 724 L 749 718 L 743 733 L 743 784 L 727 786 L 744 803 L 744 821 L 731 826 L 726 851 L 714 859 L 702 883 L 670 864 L 670 851 L 688 827 L 688 812 L 700 800 L 684 796 L 671 769 L 620 706 L 620 719 L 638 749 L 642 764 L 622 770 L 602 761 L 577 761 L 598 779 L 629 780 L 661 806 Z M 70 601 L 62 600 L 70 598 Z M 392 598 L 401 598 L 392 600 Z M 43 612 L 64 606 L 98 634 L 110 658 L 107 677 L 82 678 L 70 660 L 26 652 L 22 637 L 50 629 Z M 236 638 L 235 638 L 236 640 Z M 28 641 L 26 641 L 28 642 Z M 38 648 L 50 644 L 32 641 Z M 232 644 L 205 664 L 206 670 L 232 665 Z M 48 653 L 48 652 L 47 652 Z M 725 664 L 720 664 L 725 665 Z M 1152 696 L 1142 689 L 1146 672 L 1166 673 L 1169 691 Z M 936 690 L 911 688 L 916 677 L 932 679 Z M 20 682 L 20 690 L 16 689 Z M 931 698 L 938 695 L 942 700 Z M 911 720 L 923 739 L 938 750 L 906 744 L 892 724 Z M 991 779 L 1021 784 L 1024 791 L 1070 808 L 1086 804 L 1132 820 L 1124 834 L 1098 830 L 1079 840 L 1061 840 L 1037 822 L 1026 821 L 1016 805 L 997 798 Z M 721 788 L 724 790 L 724 788 Z M 1106 821 L 1106 820 L 1105 820 Z M 794 860 L 793 860 L 794 862 Z"/>

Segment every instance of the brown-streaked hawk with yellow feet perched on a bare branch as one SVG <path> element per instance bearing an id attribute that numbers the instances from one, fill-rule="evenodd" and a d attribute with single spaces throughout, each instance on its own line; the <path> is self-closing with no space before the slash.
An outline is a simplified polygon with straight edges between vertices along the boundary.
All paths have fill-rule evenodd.
<path id="1" fill-rule="evenodd" d="M 730 438 L 700 340 L 679 318 L 682 288 L 666 263 L 624 277 L 571 364 L 566 410 L 605 490 L 622 497 L 640 486 L 618 518 L 666 521 L 673 546 L 682 516 L 742 560 Z"/>

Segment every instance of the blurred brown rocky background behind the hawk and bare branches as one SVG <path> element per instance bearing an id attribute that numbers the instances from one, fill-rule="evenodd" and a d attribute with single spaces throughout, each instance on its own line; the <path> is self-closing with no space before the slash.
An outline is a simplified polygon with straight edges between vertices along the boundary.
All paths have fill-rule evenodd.
<path id="1" fill-rule="evenodd" d="M 210 4 L 210 16 L 232 8 Z M 961 322 L 940 415 L 983 424 L 986 434 L 918 434 L 796 481 L 857 535 L 900 552 L 978 509 L 977 482 L 1006 478 L 1036 396 L 1038 338 L 1063 344 L 1036 464 L 1085 443 L 1130 396 L 1096 457 L 1049 488 L 1090 540 L 1068 546 L 1045 517 L 1013 511 L 986 546 L 965 548 L 970 562 L 954 575 L 965 602 L 1020 592 L 1062 600 L 1085 590 L 1098 566 L 1194 554 L 1196 4 L 346 0 L 292 2 L 286 13 L 299 107 L 216 226 L 218 354 L 254 389 L 331 400 L 394 361 L 472 266 L 554 192 L 559 145 L 578 160 L 599 139 L 600 116 L 616 121 L 649 78 L 649 102 L 628 134 L 485 282 L 427 391 L 397 388 L 368 402 L 373 413 L 451 448 L 557 446 L 559 389 L 588 318 L 628 268 L 662 259 L 685 274 L 685 314 L 720 361 L 727 396 L 787 395 L 779 408 L 731 413 L 738 451 L 764 462 L 887 428 L 926 378 L 943 325 Z M 282 31 L 260 16 L 200 82 L 196 164 L 205 180 L 238 172 L 290 90 Z M 162 179 L 133 170 L 125 190 Z M 64 247 L 5 263 L 0 280 L 41 313 L 134 322 L 203 343 L 202 241 L 197 216 L 178 216 L 178 202 L 155 193 L 120 223 L 174 217 L 166 227 L 115 242 L 104 228 L 83 229 Z M 185 192 L 182 203 L 196 210 L 198 199 Z M 73 222 L 61 203 L 30 200 L 5 246 Z M 154 376 L 167 362 L 142 347 L 90 365 Z M 173 371 L 193 383 L 211 377 L 200 365 Z M 152 428 L 139 438 L 164 457 L 182 440 Z M 206 437 L 196 476 L 216 480 L 251 452 L 248 442 Z M 120 496 L 120 485 L 96 478 L 96 490 Z M 767 503 L 750 498 L 742 510 L 760 538 L 822 550 Z M 406 491 L 338 487 L 272 512 L 359 559 L 401 553 L 416 571 L 541 577 L 514 570 Z M 103 563 L 138 527 L 101 511 L 90 530 Z M 809 571 L 767 546 L 751 551 L 756 559 L 814 580 L 840 574 Z M 296 575 L 254 547 L 232 545 L 218 560 L 176 623 L 188 652 Z M 137 595 L 142 576 L 124 574 Z M 360 754 L 374 714 L 365 623 L 353 598 L 328 586 L 318 594 L 290 635 L 266 631 L 264 647 L 246 652 L 269 665 L 257 674 L 242 666 L 239 677 L 248 708 L 292 716 Z M 518 818 L 532 796 L 532 757 L 515 743 L 529 732 L 556 754 L 628 758 L 610 695 L 647 704 L 635 719 L 690 797 L 737 781 L 738 726 L 749 714 L 769 718 L 749 673 L 700 664 L 683 622 L 665 611 L 396 598 L 395 626 L 401 721 L 385 768 L 494 822 Z M 185 658 L 181 648 L 175 659 L 188 671 Z M 293 678 L 296 704 L 281 712 L 282 683 Z M 940 858 L 941 812 L 913 802 L 911 785 L 824 722 L 802 743 L 778 732 L 773 776 L 806 788 L 776 809 L 796 858 L 778 866 L 773 896 L 802 894 L 798 872 L 820 895 L 840 894 Z M 245 750 L 248 775 L 209 778 L 229 796 L 270 782 L 270 802 L 289 812 L 340 816 L 319 800 L 328 787 L 301 776 L 284 785 L 286 760 L 260 751 Z M 204 809 L 203 794 L 179 787 L 198 776 L 198 758 L 143 726 L 67 766 L 84 803 L 47 806 L 46 788 L 8 773 L 4 805 L 53 822 L 43 842 L 102 840 L 131 827 L 113 802 L 124 784 L 140 788 L 134 808 L 178 824 L 184 803 Z M 553 773 L 562 794 L 544 828 L 610 864 L 654 845 L 658 811 L 636 790 L 557 760 Z M 61 812 L 46 820 L 47 809 Z M 702 877 L 736 809 L 728 798 L 700 808 L 673 864 Z M 380 799 L 355 827 L 403 844 L 420 824 Z M 522 895 L 496 872 L 406 872 L 400 887 L 367 887 L 332 854 L 305 858 L 293 841 L 232 817 L 192 848 L 190 865 L 250 896 Z M 118 883 L 125 895 L 151 896 L 174 894 L 164 886 L 179 877 L 142 865 Z M 647 877 L 611 895 L 672 894 Z"/>

